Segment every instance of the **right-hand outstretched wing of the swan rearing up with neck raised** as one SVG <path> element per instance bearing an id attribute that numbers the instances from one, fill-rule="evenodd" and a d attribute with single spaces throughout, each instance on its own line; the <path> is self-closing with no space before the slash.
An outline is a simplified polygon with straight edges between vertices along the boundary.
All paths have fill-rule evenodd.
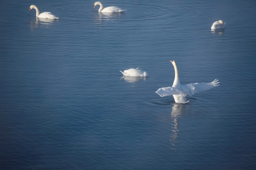
<path id="1" fill-rule="evenodd" d="M 219 80 L 216 78 L 213 82 L 210 83 L 193 83 L 189 85 L 182 86 L 182 92 L 186 95 L 192 95 L 194 93 L 199 93 L 205 90 L 209 90 L 213 87 L 218 86 Z"/>

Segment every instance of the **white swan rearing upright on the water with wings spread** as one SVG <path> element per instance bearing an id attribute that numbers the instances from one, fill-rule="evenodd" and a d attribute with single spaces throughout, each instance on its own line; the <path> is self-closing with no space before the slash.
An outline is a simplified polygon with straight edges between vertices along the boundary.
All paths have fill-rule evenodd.
<path id="1" fill-rule="evenodd" d="M 167 96 L 167 95 L 173 95 L 174 100 L 176 103 L 187 103 L 186 95 L 192 95 L 194 93 L 202 92 L 205 90 L 209 90 L 213 87 L 218 86 L 219 80 L 216 78 L 214 81 L 210 83 L 193 83 L 189 85 L 181 85 L 179 74 L 178 74 L 178 68 L 176 65 L 176 62 L 174 60 L 170 60 L 172 64 L 174 65 L 174 71 L 175 71 L 175 78 L 174 78 L 174 84 L 172 87 L 162 87 L 159 88 L 155 93 L 160 95 L 161 97 Z"/>

